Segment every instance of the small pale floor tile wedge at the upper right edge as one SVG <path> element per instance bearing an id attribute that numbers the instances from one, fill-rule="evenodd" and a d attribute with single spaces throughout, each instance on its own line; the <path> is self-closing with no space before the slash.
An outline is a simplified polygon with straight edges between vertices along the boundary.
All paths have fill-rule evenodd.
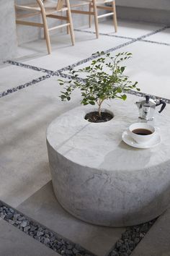
<path id="1" fill-rule="evenodd" d="M 153 40 L 158 43 L 169 43 L 170 44 L 170 28 L 156 33 L 155 35 L 148 36 L 146 40 Z"/>

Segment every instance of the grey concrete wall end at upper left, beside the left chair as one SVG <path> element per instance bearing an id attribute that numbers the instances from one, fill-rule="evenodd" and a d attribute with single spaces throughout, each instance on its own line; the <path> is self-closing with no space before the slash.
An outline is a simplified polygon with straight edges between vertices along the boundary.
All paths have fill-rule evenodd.
<path id="1" fill-rule="evenodd" d="M 1 0 L 0 8 L 0 62 L 14 57 L 17 51 L 14 0 Z"/>

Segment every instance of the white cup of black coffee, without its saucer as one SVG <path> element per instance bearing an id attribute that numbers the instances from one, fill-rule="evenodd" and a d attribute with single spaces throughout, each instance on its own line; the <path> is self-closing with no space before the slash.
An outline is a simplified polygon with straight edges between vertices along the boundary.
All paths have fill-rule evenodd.
<path id="1" fill-rule="evenodd" d="M 147 123 L 135 123 L 131 124 L 128 129 L 130 137 L 139 144 L 147 143 L 153 138 L 156 133 L 156 129 Z"/>

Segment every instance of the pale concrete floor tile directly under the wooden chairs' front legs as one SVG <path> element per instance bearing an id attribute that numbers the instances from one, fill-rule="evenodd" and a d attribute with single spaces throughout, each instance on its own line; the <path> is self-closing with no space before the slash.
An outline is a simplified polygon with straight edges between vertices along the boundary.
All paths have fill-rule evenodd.
<path id="1" fill-rule="evenodd" d="M 104 35 L 96 39 L 94 34 L 81 32 L 76 32 L 75 36 L 75 46 L 71 46 L 69 43 L 68 35 L 61 35 L 60 39 L 53 36 L 52 54 L 25 61 L 24 63 L 45 69 L 57 70 L 81 61 L 81 59 L 88 58 L 97 51 L 104 51 L 128 41 L 122 38 L 112 38 Z M 45 48 L 45 42 L 42 43 L 42 40 L 37 40 L 29 43 L 29 46 L 37 49 Z"/>

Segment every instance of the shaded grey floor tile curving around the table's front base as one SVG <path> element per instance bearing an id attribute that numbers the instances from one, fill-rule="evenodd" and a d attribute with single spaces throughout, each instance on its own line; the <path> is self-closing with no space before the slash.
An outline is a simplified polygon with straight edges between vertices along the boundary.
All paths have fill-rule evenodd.
<path id="1" fill-rule="evenodd" d="M 19 205 L 18 209 L 97 256 L 106 255 L 125 231 L 91 225 L 74 218 L 56 200 L 51 182 Z"/>

